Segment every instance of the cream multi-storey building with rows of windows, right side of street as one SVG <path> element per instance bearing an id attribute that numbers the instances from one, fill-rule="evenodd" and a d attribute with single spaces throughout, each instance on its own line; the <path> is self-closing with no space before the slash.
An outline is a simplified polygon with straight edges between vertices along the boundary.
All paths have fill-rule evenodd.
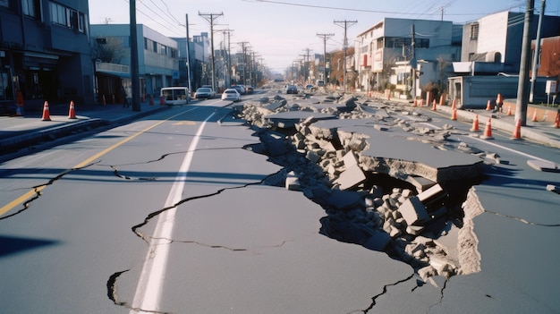
<path id="1" fill-rule="evenodd" d="M 356 88 L 369 92 L 392 85 L 395 97 L 420 96 L 428 82 L 445 82 L 446 65 L 459 60 L 460 30 L 451 21 L 378 21 L 355 40 Z"/>

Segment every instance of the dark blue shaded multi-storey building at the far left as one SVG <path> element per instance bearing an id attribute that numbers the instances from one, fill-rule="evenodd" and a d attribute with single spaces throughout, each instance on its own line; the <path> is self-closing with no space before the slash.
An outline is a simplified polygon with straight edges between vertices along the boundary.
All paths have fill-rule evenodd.
<path id="1" fill-rule="evenodd" d="M 0 102 L 93 102 L 88 1 L 0 0 Z"/>

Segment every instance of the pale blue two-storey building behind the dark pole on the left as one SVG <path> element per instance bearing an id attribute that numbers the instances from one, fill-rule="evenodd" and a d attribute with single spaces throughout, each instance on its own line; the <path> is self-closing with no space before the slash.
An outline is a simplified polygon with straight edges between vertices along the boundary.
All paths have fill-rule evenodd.
<path id="1" fill-rule="evenodd" d="M 129 24 L 91 25 L 99 100 L 105 96 L 106 101 L 121 102 L 123 88 L 131 97 L 130 33 Z M 140 93 L 159 96 L 159 89 L 180 81 L 177 41 L 142 24 L 137 25 L 137 35 Z"/>

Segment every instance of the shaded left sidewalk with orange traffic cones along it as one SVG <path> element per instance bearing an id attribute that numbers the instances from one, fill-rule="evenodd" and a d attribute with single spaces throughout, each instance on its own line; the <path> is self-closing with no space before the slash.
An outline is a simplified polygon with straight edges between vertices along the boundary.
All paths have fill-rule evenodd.
<path id="1" fill-rule="evenodd" d="M 70 119 L 69 104 L 49 106 L 50 121 L 43 121 L 43 111 L 26 111 L 24 116 L 0 116 L 0 155 L 43 140 L 62 138 L 84 129 L 119 124 L 151 115 L 167 106 L 140 104 L 140 111 L 120 104 L 75 106 L 76 119 Z"/>

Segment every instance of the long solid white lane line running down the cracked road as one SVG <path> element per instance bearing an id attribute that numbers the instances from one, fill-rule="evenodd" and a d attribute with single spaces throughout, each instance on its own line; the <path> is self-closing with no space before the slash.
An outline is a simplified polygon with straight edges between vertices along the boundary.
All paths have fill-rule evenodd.
<path id="1" fill-rule="evenodd" d="M 200 135 L 208 120 L 214 115 L 209 115 L 203 123 L 200 124 L 199 130 L 191 141 L 191 146 L 182 160 L 179 173 L 175 177 L 175 181 L 167 199 L 165 200 L 165 208 L 169 208 L 177 204 L 182 199 L 182 190 L 184 182 L 187 178 L 187 172 L 191 166 L 192 156 L 199 143 Z M 174 216 L 177 208 L 170 208 L 161 213 L 157 217 L 157 225 L 149 242 L 148 255 L 144 261 L 140 279 L 134 293 L 132 301 L 131 314 L 153 312 L 158 310 L 160 295 L 162 292 L 165 268 L 167 267 L 167 259 L 169 257 L 170 239 L 172 238 L 174 228 Z"/>

